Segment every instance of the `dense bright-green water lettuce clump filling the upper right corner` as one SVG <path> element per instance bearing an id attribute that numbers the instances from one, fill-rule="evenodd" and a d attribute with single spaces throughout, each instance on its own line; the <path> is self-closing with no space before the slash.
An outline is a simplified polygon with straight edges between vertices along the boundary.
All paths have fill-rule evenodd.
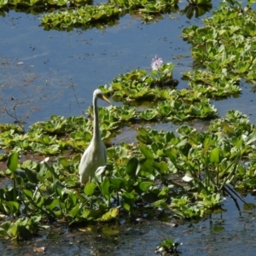
<path id="1" fill-rule="evenodd" d="M 255 20 L 253 9 L 221 3 L 212 17 L 204 19 L 206 26 L 184 28 L 183 38 L 192 44 L 192 56 L 212 73 L 254 80 Z"/>

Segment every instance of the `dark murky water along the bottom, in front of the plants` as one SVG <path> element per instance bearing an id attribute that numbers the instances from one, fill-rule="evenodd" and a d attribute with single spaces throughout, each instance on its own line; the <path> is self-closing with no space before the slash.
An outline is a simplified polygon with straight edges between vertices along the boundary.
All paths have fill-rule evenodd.
<path id="1" fill-rule="evenodd" d="M 255 201 L 247 196 L 247 202 Z M 242 206 L 240 206 L 242 209 Z M 45 255 L 155 255 L 160 242 L 174 237 L 183 242 L 181 255 L 255 255 L 255 212 L 237 211 L 229 198 L 224 201 L 228 212 L 212 214 L 197 224 L 180 223 L 173 227 L 172 220 L 162 222 L 143 218 L 140 223 L 81 225 L 68 229 L 54 224 L 31 241 L 0 240 L 1 255 L 36 255 L 33 250 L 45 247 Z"/>

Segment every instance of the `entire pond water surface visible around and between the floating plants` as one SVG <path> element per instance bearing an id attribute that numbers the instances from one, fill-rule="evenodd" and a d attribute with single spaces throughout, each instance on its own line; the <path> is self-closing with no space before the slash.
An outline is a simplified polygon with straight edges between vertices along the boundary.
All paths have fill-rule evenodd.
<path id="1" fill-rule="evenodd" d="M 180 8 L 185 5 L 181 3 Z M 51 114 L 80 115 L 90 106 L 92 91 L 100 84 L 137 67 L 149 70 L 154 55 L 176 65 L 178 89 L 187 86 L 181 73 L 192 69 L 193 59 L 190 45 L 180 36 L 183 27 L 200 25 L 202 17 L 189 20 L 185 15 L 170 14 L 156 23 L 143 24 L 138 17 L 125 15 L 115 26 L 73 32 L 44 31 L 39 17 L 9 11 L 0 18 L 1 123 L 13 123 L 12 116 L 16 115 L 26 121 L 27 129 Z M 251 84 L 242 81 L 241 88 L 239 98 L 214 105 L 219 116 L 237 109 L 255 122 Z M 147 125 L 166 131 L 177 129 L 172 123 Z M 207 122 L 193 121 L 191 125 L 204 129 Z M 134 127 L 125 127 L 113 143 L 132 142 L 136 133 Z M 246 200 L 255 203 L 253 196 Z M 142 222 L 131 224 L 121 221 L 110 227 L 101 224 L 70 230 L 60 223 L 32 241 L 16 244 L 2 240 L 0 251 L 1 255 L 32 255 L 34 247 L 45 247 L 49 255 L 153 255 L 161 241 L 174 237 L 183 242 L 179 247 L 183 255 L 254 255 L 255 212 L 240 215 L 230 199 L 224 208 L 228 211 L 222 215 L 212 215 L 212 225 L 206 219 L 173 227 L 172 220 L 142 218 Z"/>

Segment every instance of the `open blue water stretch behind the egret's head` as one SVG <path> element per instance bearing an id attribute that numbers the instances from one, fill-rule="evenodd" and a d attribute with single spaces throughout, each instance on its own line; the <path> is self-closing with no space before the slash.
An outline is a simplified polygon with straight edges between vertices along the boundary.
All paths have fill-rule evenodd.
<path id="1" fill-rule="evenodd" d="M 149 70 L 154 55 L 177 65 L 174 78 L 178 80 L 192 66 L 189 44 L 180 38 L 184 23 L 180 15 L 166 15 L 148 25 L 125 15 L 118 26 L 73 32 L 44 31 L 38 16 L 14 11 L 1 19 L 2 122 L 14 121 L 3 111 L 4 106 L 9 112 L 13 109 L 15 101 L 9 97 L 22 102 L 16 113 L 27 127 L 51 114 L 79 115 L 79 107 L 90 106 L 92 91 L 100 84 L 135 68 Z M 187 57 L 176 58 L 179 55 Z M 179 86 L 186 84 L 180 81 Z"/>

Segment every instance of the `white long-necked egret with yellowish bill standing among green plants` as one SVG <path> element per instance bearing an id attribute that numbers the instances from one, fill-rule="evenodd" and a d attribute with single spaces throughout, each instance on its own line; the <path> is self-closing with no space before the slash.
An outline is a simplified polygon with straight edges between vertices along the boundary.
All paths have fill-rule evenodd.
<path id="1" fill-rule="evenodd" d="M 103 96 L 102 90 L 96 89 L 93 92 L 92 105 L 94 110 L 94 127 L 93 137 L 90 145 L 84 151 L 84 154 L 79 163 L 79 176 L 80 183 L 87 183 L 95 176 L 95 172 L 98 167 L 106 166 L 107 151 L 104 143 L 102 143 L 102 137 L 99 127 L 99 116 L 97 108 L 97 99 L 102 99 L 112 105 L 108 99 Z"/>

